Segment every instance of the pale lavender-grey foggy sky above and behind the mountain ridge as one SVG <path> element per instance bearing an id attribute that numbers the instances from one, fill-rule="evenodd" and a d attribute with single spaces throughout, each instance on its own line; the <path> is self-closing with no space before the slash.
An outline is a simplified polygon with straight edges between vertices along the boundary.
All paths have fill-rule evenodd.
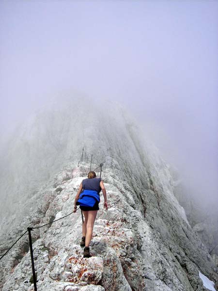
<path id="1" fill-rule="evenodd" d="M 217 80 L 218 1 L 0 1 L 1 145 L 66 90 L 117 100 L 214 197 Z"/>

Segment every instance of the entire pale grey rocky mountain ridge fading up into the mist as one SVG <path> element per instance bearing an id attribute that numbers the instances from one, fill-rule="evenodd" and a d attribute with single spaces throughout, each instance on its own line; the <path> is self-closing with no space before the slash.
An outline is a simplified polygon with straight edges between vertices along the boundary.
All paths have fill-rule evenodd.
<path id="1" fill-rule="evenodd" d="M 90 104 L 86 108 L 88 123 L 79 119 L 78 108 L 72 114 L 71 105 L 55 116 L 41 114 L 17 138 L 14 149 L 10 147 L 7 159 L 12 167 L 1 184 L 10 204 L 4 209 L 1 203 L 1 254 L 28 226 L 42 226 L 72 212 L 90 166 L 78 167 L 76 152 L 88 145 L 93 169 L 104 162 L 109 203 L 107 211 L 100 203 L 90 247 L 93 257 L 84 259 L 79 246 L 79 210 L 34 229 L 38 290 L 208 290 L 199 271 L 218 290 L 218 269 L 174 195 L 170 166 L 139 138 L 140 131 L 122 110 L 95 106 L 93 114 Z M 12 157 L 18 153 L 14 164 Z M 22 197 L 16 196 L 17 183 Z M 2 291 L 33 290 L 27 234 L 0 260 L 0 273 Z"/>

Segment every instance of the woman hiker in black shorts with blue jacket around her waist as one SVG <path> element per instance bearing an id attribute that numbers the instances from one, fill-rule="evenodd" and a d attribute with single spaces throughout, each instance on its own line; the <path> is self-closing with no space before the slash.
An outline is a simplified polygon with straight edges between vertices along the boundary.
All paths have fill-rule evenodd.
<path id="1" fill-rule="evenodd" d="M 100 192 L 104 195 L 104 208 L 108 210 L 107 194 L 105 186 L 101 178 L 96 178 L 95 172 L 91 171 L 88 173 L 88 178 L 82 180 L 78 193 L 75 197 L 74 211 L 77 211 L 77 205 L 82 210 L 83 216 L 85 217 L 82 225 L 82 240 L 80 246 L 84 246 L 83 258 L 90 258 L 89 245 L 93 236 L 93 225 L 99 210 L 98 204 L 100 202 Z"/>

